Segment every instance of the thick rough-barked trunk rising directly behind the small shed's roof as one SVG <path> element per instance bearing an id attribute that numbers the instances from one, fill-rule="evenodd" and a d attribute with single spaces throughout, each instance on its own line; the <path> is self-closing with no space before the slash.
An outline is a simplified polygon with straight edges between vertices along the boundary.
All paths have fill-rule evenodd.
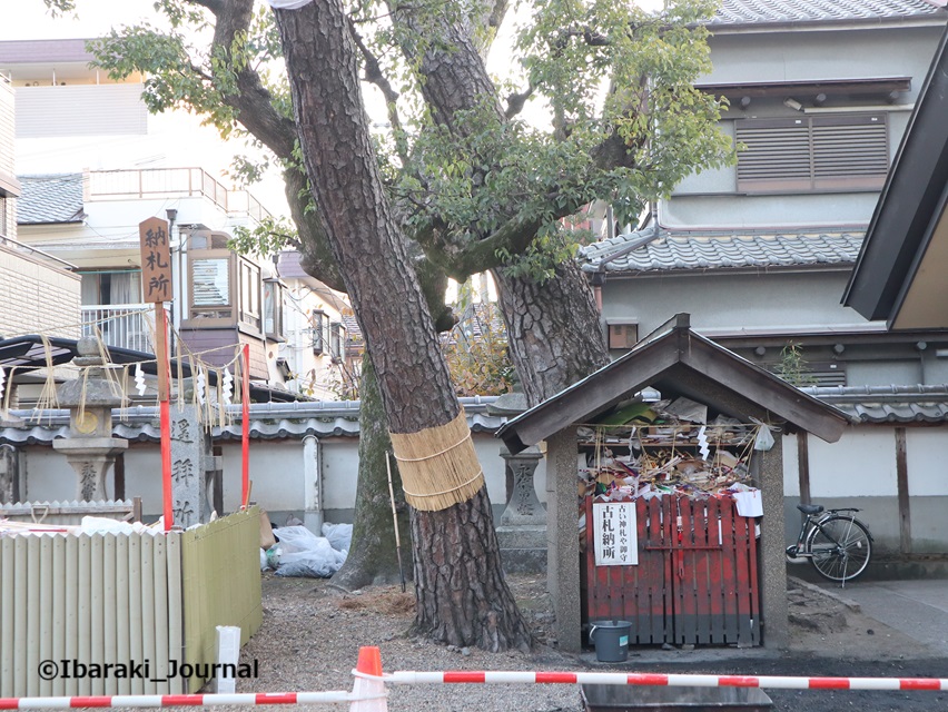
<path id="1" fill-rule="evenodd" d="M 552 279 L 494 273 L 511 357 L 534 406 L 609 363 L 592 289 L 574 260 Z"/>

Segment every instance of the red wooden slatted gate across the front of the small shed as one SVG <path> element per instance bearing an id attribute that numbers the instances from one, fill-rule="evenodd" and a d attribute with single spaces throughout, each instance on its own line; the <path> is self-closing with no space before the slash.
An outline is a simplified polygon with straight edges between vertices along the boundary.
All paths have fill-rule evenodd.
<path id="1" fill-rule="evenodd" d="M 687 496 L 635 502 L 639 564 L 596 566 L 586 498 L 586 620 L 632 623 L 630 643 L 759 645 L 754 521 L 733 503 Z"/>

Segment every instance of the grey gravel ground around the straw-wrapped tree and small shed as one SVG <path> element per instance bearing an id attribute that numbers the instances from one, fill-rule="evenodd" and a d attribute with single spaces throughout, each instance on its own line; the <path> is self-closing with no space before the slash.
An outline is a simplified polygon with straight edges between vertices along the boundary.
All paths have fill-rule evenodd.
<path id="1" fill-rule="evenodd" d="M 791 649 L 636 649 L 621 664 L 599 663 L 555 650 L 545 577 L 511 576 L 511 586 L 537 637 L 536 653 L 456 650 L 409 637 L 414 597 L 398 586 L 342 594 L 325 581 L 264 574 L 264 624 L 241 653 L 257 660 L 260 676 L 238 681 L 238 692 L 350 690 L 361 645 L 382 650 L 383 669 L 394 670 L 596 670 L 708 672 L 832 676 L 948 676 L 948 660 L 898 631 L 881 625 L 806 584 L 791 580 Z M 415 685 L 389 686 L 393 712 L 556 712 L 584 710 L 573 685 Z M 889 712 L 946 710 L 948 693 L 769 690 L 772 710 Z M 271 708 L 277 709 L 277 708 Z M 347 705 L 319 709 L 346 710 Z M 599 708 L 603 709 L 603 708 Z M 621 708 L 612 708 L 619 712 Z"/>

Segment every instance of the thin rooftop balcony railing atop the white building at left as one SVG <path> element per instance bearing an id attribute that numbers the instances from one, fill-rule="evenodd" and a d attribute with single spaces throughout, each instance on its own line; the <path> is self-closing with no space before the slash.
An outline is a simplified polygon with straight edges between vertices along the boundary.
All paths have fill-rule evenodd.
<path id="1" fill-rule="evenodd" d="M 226 212 L 246 214 L 256 221 L 270 212 L 246 190 L 227 190 L 201 168 L 142 168 L 89 172 L 90 200 L 204 197 Z"/>

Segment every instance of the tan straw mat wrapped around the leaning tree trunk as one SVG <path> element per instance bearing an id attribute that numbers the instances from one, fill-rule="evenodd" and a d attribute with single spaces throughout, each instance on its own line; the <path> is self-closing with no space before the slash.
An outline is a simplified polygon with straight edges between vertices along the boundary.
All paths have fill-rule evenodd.
<path id="1" fill-rule="evenodd" d="M 467 502 L 484 486 L 464 408 L 446 425 L 389 435 L 405 500 L 416 510 L 446 510 Z"/>

